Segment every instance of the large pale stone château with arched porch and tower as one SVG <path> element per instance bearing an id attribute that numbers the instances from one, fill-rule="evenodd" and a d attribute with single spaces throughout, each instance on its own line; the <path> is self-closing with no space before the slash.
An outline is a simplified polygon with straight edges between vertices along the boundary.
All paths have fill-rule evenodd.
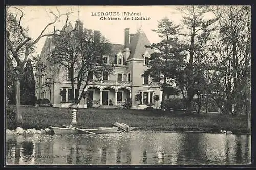
<path id="1" fill-rule="evenodd" d="M 83 28 L 80 20 L 76 21 L 75 29 Z M 73 30 L 71 24 L 65 25 L 63 29 Z M 62 29 L 62 30 L 63 30 Z M 95 34 L 99 31 L 95 31 Z M 120 35 L 121 36 L 121 35 Z M 124 29 L 124 45 L 111 44 L 111 53 L 103 56 L 103 62 L 108 64 L 114 61 L 115 67 L 111 74 L 102 72 L 100 79 L 93 74 L 89 74 L 91 80 L 86 87 L 89 93 L 89 99 L 93 102 L 93 107 L 109 106 L 121 107 L 127 98 L 132 99 L 133 109 L 144 109 L 147 104 L 153 104 L 153 107 L 159 107 L 160 101 L 154 101 L 154 95 L 160 95 L 160 88 L 152 85 L 149 76 L 142 77 L 144 70 L 147 69 L 150 54 L 153 53 L 145 33 L 139 29 L 135 34 L 130 34 L 129 28 Z M 49 52 L 54 48 L 52 37 L 47 37 L 40 54 L 40 61 L 47 63 Z M 53 104 L 53 107 L 69 107 L 72 104 L 71 81 L 69 72 L 66 69 L 54 70 L 49 67 L 54 65 L 45 64 L 40 74 L 36 76 L 36 96 L 37 99 L 47 98 Z M 75 84 L 76 85 L 76 84 Z M 60 90 L 66 91 L 65 96 L 60 95 Z M 76 95 L 77 89 L 74 91 Z M 141 94 L 142 99 L 138 102 L 135 95 Z M 160 96 L 161 100 L 161 96 Z M 86 101 L 82 99 L 78 107 L 87 107 Z M 112 107 L 112 106 L 110 106 Z"/>

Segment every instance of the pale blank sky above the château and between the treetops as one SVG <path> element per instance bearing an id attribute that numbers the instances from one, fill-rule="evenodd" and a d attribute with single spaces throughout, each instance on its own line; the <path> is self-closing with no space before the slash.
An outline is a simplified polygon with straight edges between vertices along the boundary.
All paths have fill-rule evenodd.
<path id="1" fill-rule="evenodd" d="M 130 33 L 136 33 L 141 28 L 148 40 L 151 43 L 160 41 L 157 33 L 152 29 L 157 29 L 158 21 L 164 17 L 168 17 L 175 24 L 180 23 L 181 14 L 176 10 L 177 6 L 17 6 L 24 11 L 22 25 L 29 29 L 29 36 L 37 38 L 42 29 L 53 20 L 53 15 L 50 13 L 60 14 L 73 11 L 69 15 L 74 27 L 75 21 L 79 18 L 83 22 L 84 28 L 99 30 L 111 43 L 124 44 L 124 29 L 130 28 Z M 57 7 L 57 9 L 56 9 Z M 15 10 L 12 9 L 11 10 Z M 79 12 L 78 12 L 79 11 Z M 101 17 L 108 16 L 92 16 L 95 12 L 119 12 L 119 16 L 111 16 L 120 18 L 121 20 L 100 20 Z M 130 20 L 124 20 L 122 14 L 139 13 L 138 17 L 147 17 L 149 20 L 131 20 L 133 16 L 126 16 Z M 62 16 L 54 25 L 51 25 L 45 33 L 53 32 L 54 26 L 56 29 L 62 29 L 66 22 L 66 16 Z M 135 19 L 135 18 L 133 18 Z M 36 44 L 35 53 L 40 54 L 44 45 L 45 37 Z"/>

